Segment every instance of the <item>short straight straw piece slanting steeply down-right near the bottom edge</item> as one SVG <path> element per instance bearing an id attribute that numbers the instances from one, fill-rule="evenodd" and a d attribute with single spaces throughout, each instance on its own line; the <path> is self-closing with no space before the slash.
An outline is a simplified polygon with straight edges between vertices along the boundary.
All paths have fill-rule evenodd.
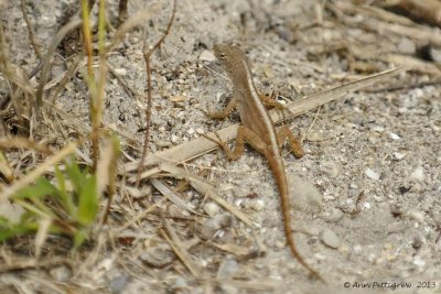
<path id="1" fill-rule="evenodd" d="M 170 225 L 168 220 L 164 220 L 164 226 L 166 229 L 166 232 L 161 229 L 161 235 L 164 237 L 164 239 L 169 242 L 171 248 L 173 249 L 174 253 L 178 255 L 178 258 L 184 263 L 184 265 L 189 269 L 189 271 L 195 276 L 195 277 L 201 277 L 202 270 L 198 264 L 193 262 L 191 254 L 189 251 L 185 249 L 185 247 L 182 244 L 181 240 L 179 239 L 176 232 Z"/>

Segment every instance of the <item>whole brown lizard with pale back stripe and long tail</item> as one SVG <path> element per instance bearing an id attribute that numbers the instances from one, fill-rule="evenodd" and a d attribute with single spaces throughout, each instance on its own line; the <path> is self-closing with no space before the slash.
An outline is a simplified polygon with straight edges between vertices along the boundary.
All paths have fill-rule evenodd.
<path id="1" fill-rule="evenodd" d="M 263 105 L 267 101 L 258 94 L 252 81 L 250 65 L 245 53 L 238 46 L 229 44 L 214 45 L 213 51 L 232 79 L 234 90 L 233 98 L 224 111 L 208 115 L 212 118 L 223 119 L 237 107 L 241 126 L 237 130 L 234 151 L 219 139 L 207 139 L 219 144 L 229 160 L 238 160 L 240 157 L 244 153 L 245 142 L 249 143 L 267 159 L 281 196 L 284 233 L 291 252 L 313 276 L 323 281 L 320 274 L 300 255 L 292 236 L 288 182 L 282 161 L 281 146 L 288 139 L 290 148 L 297 157 L 304 155 L 303 150 L 288 127 L 281 127 L 279 132 L 276 131 L 275 123 Z"/>

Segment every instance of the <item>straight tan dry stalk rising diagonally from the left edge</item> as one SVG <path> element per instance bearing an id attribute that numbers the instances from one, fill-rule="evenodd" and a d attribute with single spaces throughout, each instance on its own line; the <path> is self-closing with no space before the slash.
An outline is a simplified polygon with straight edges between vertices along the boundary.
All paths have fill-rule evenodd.
<path id="1" fill-rule="evenodd" d="M 67 155 L 75 152 L 78 143 L 69 143 L 67 146 L 63 148 L 58 153 L 49 157 L 45 162 L 40 164 L 35 170 L 23 176 L 22 178 L 15 181 L 12 185 L 3 187 L 3 190 L 0 193 L 0 203 L 6 202 L 14 195 L 21 188 L 28 186 L 32 182 L 34 182 L 39 176 L 44 174 L 49 168 L 51 168 L 56 163 L 61 162 Z"/>

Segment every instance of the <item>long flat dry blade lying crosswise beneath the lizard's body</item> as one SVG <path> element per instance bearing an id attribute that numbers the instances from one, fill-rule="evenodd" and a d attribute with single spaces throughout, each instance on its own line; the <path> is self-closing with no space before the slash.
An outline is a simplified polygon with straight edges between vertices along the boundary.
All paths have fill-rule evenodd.
<path id="1" fill-rule="evenodd" d="M 299 101 L 294 101 L 292 104 L 287 105 L 287 108 L 291 111 L 292 116 L 298 116 L 308 110 L 314 109 L 315 107 L 342 98 L 345 94 L 359 90 L 362 88 L 373 85 L 374 83 L 390 78 L 404 70 L 406 70 L 404 67 L 388 69 L 359 80 L 351 81 L 329 90 L 310 95 L 308 97 L 300 99 Z M 270 115 L 275 122 L 280 122 L 283 119 L 283 116 L 278 113 L 278 111 L 276 110 L 271 110 Z M 235 139 L 238 127 L 239 127 L 238 123 L 232 124 L 228 126 L 227 128 L 217 131 L 217 133 L 219 134 L 219 138 L 223 141 L 230 141 Z M 208 137 L 216 138 L 214 133 L 208 133 Z M 197 138 L 193 141 L 147 156 L 143 165 L 144 166 L 154 165 L 163 161 L 185 162 L 198 157 L 217 148 L 218 146 L 216 143 L 205 138 Z M 138 165 L 139 162 L 128 163 L 126 164 L 126 171 L 127 172 L 136 171 L 138 168 Z"/>

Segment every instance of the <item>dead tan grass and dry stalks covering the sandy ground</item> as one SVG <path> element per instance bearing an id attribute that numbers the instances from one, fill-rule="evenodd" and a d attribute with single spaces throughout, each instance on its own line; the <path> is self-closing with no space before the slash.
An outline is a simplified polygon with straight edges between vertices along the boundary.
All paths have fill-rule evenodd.
<path id="1" fill-rule="evenodd" d="M 194 285 L 205 286 L 207 293 L 223 285 L 244 291 L 275 291 L 279 287 L 275 281 L 256 281 L 245 273 L 232 276 L 225 270 L 225 266 L 233 266 L 226 255 L 246 263 L 265 254 L 266 249 L 251 233 L 259 229 L 252 216 L 226 202 L 211 184 L 205 168 L 189 164 L 191 160 L 215 150 L 216 144 L 200 137 L 151 152 L 151 144 L 157 143 L 151 133 L 157 91 L 152 76 L 158 74 L 152 58 L 162 46 L 168 46 L 179 3 L 178 8 L 176 1 L 148 4 L 128 14 L 129 1 L 120 1 L 118 20 L 112 20 L 105 1 L 96 2 L 82 1 L 82 7 L 68 14 L 53 39 L 42 44 L 35 40 L 33 28 L 37 19 L 28 13 L 32 7 L 21 1 L 29 43 L 35 54 L 33 70 L 29 73 L 20 66 L 20 61 L 11 56 L 8 40 L 14 37 L 12 32 L 6 30 L 4 24 L 0 26 L 0 207 L 10 210 L 9 214 L 0 211 L 0 273 L 4 276 L 0 280 L 0 287 L 10 287 L 12 293 L 32 293 L 34 290 L 106 292 L 111 286 L 105 274 L 110 266 L 118 266 L 125 273 L 120 276 L 143 281 L 148 287 L 159 291 L 179 276 L 183 276 L 185 282 L 182 282 L 183 286 L 175 285 L 175 291 L 182 290 L 183 293 Z M 365 1 L 374 2 L 372 4 L 324 2 L 324 6 L 316 4 L 316 19 L 311 24 L 278 28 L 276 34 L 284 42 L 291 42 L 287 39 L 291 33 L 304 35 L 309 30 L 326 28 L 341 30 L 344 35 L 344 30 L 357 29 L 383 37 L 383 42 L 366 42 L 359 34 L 326 44 L 310 40 L 306 51 L 311 59 L 336 53 L 347 61 L 346 72 L 330 75 L 326 83 L 319 81 L 323 90 L 287 104 L 289 113 L 271 111 L 275 121 L 305 113 L 348 92 L 386 92 L 439 83 L 440 61 L 431 52 L 441 46 L 441 34 L 427 23 L 440 25 L 440 9 L 419 6 L 415 10 L 415 1 L 396 1 L 388 6 L 377 6 L 376 1 Z M 95 10 L 90 7 L 94 4 Z M 13 4 L 0 2 L 0 6 L 10 9 Z M 409 13 L 396 14 L 391 8 Z M 1 17 L 6 18 L 8 10 L 1 11 Z M 148 40 L 148 36 L 158 35 L 148 35 L 148 29 L 152 26 L 147 23 L 155 13 L 168 20 L 165 24 L 162 21 L 154 26 L 162 32 L 158 41 Z M 407 18 L 409 14 L 412 19 Z M 415 17 L 427 23 L 416 22 Z M 117 29 L 111 26 L 118 22 Z M 120 47 L 118 51 L 115 48 L 133 31 L 142 31 L 143 36 L 147 80 L 142 94 L 127 86 L 125 78 L 119 77 L 108 63 L 109 55 L 121 54 Z M 396 44 L 402 43 L 402 39 L 406 42 L 397 52 Z M 72 44 L 79 44 L 79 47 Z M 54 56 L 63 54 L 65 70 L 53 76 Z M 318 73 L 329 74 L 319 64 L 311 66 Z M 405 75 L 406 72 L 409 74 Z M 400 79 L 394 78 L 397 75 Z M 133 134 L 103 121 L 104 105 L 109 99 L 106 85 L 114 77 L 141 105 L 143 143 Z M 57 104 L 67 83 L 73 79 L 87 89 L 88 122 L 67 113 Z M 369 87 L 374 84 L 375 87 Z M 324 85 L 335 86 L 324 89 Z M 304 87 L 298 89 L 300 94 L 304 92 Z M 217 133 L 224 141 L 230 141 L 237 127 L 230 124 Z M 63 176 L 72 162 L 79 166 L 78 173 L 86 182 L 83 184 L 94 178 L 90 185 L 80 188 L 82 183 L 75 182 L 78 181 L 75 175 Z M 45 182 L 46 186 L 39 186 L 41 178 L 52 183 L 56 189 L 43 189 L 49 184 Z M 28 193 L 31 189 L 31 193 L 20 196 L 23 189 Z M 189 197 L 194 194 L 198 195 L 195 199 Z M 207 203 L 212 205 L 206 206 Z M 356 205 L 356 214 L 359 214 L 358 200 Z M 229 242 L 216 240 L 222 233 L 227 233 Z M 198 255 L 202 249 L 204 253 Z M 47 274 L 51 270 L 66 271 L 71 277 L 63 283 L 43 282 L 51 276 Z M 28 287 L 21 286 L 13 276 L 15 272 L 22 272 L 32 283 L 26 284 Z M 123 282 L 128 283 L 129 279 Z M 30 288 L 30 285 L 35 288 Z"/>

